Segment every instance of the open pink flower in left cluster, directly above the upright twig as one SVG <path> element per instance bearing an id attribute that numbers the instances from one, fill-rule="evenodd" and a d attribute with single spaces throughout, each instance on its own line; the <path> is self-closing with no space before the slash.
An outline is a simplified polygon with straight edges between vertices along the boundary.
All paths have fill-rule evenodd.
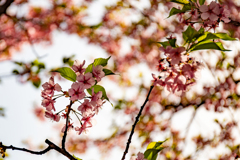
<path id="1" fill-rule="evenodd" d="M 83 99 L 85 97 L 85 92 L 84 92 L 84 86 L 80 85 L 78 82 L 74 82 L 69 89 L 68 93 L 69 96 L 71 96 L 70 100 L 75 101 L 78 99 Z"/>

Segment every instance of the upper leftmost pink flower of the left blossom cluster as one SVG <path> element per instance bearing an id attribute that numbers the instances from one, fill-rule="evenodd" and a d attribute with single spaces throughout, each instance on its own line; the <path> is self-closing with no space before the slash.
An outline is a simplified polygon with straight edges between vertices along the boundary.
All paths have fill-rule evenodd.
<path id="1" fill-rule="evenodd" d="M 61 86 L 58 83 L 54 84 L 53 77 L 50 77 L 49 82 L 44 83 L 42 87 L 44 89 L 43 92 L 51 96 L 53 96 L 54 90 L 58 92 L 62 90 Z"/>

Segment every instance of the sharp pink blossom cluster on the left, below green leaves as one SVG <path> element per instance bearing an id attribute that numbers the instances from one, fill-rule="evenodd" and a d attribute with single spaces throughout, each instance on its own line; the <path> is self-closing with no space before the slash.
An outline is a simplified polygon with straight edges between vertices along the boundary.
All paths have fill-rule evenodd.
<path id="1" fill-rule="evenodd" d="M 86 132 L 87 128 L 92 127 L 92 117 L 99 112 L 99 109 L 104 104 L 105 101 L 102 100 L 102 91 L 94 92 L 94 88 L 92 88 L 91 96 L 86 96 L 85 90 L 90 89 L 97 82 L 99 82 L 104 76 L 103 67 L 101 65 L 94 66 L 92 65 L 92 72 L 85 72 L 86 69 L 83 67 L 85 61 L 80 63 L 76 60 L 72 66 L 72 70 L 76 73 L 76 82 L 73 82 L 71 88 L 68 89 L 68 92 L 62 91 L 62 96 L 70 97 L 70 101 L 72 103 L 80 102 L 77 110 L 70 108 L 72 112 L 75 113 L 76 116 L 81 115 L 81 120 L 78 117 L 81 126 L 74 127 L 73 123 L 70 123 L 71 118 L 69 118 L 68 129 L 75 128 L 78 134 L 82 132 Z M 69 110 L 69 106 L 66 109 L 54 114 L 52 110 L 55 111 L 54 103 L 56 102 L 54 97 L 54 91 L 60 92 L 61 86 L 59 84 L 54 84 L 53 77 L 50 78 L 49 82 L 46 82 L 42 85 L 44 90 L 41 95 L 43 97 L 42 106 L 46 108 L 45 117 L 50 118 L 54 121 L 60 120 L 60 112 L 62 113 L 62 117 L 64 119 L 67 118 L 67 112 Z M 82 102 L 83 101 L 83 102 Z M 66 125 L 63 127 L 62 132 L 66 129 Z"/>

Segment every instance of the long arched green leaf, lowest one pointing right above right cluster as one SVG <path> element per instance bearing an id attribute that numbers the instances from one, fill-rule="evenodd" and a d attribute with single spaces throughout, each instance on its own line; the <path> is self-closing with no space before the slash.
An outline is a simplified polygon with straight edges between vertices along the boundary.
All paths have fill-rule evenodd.
<path id="1" fill-rule="evenodd" d="M 202 42 L 195 44 L 194 46 L 191 46 L 191 48 L 190 48 L 191 51 L 204 50 L 204 49 L 230 51 L 230 50 L 225 49 L 221 42 L 212 42 L 212 41 L 202 41 Z"/>

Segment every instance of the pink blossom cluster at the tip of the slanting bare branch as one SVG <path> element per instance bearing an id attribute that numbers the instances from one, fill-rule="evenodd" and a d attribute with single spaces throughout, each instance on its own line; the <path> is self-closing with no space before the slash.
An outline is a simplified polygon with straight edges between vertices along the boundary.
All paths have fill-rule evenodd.
<path id="1" fill-rule="evenodd" d="M 159 60 L 157 69 L 161 74 L 158 77 L 152 74 L 153 84 L 166 87 L 172 93 L 185 92 L 194 84 L 196 72 L 202 64 L 185 55 L 184 47 L 167 46 L 160 47 L 160 50 L 167 58 Z"/>

